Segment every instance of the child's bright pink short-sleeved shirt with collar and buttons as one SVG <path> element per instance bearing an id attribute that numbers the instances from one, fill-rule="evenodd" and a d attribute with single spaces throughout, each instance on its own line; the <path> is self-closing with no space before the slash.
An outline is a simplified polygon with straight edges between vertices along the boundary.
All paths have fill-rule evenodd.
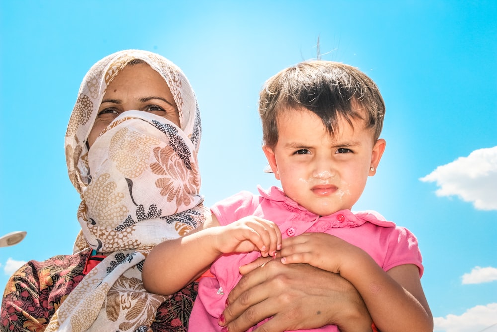
<path id="1" fill-rule="evenodd" d="M 398 265 L 414 264 L 419 267 L 419 275 L 423 273 L 422 257 L 414 234 L 386 221 L 377 212 L 341 210 L 330 216 L 318 216 L 285 196 L 277 187 L 268 191 L 259 188 L 259 193 L 260 196 L 240 192 L 216 203 L 211 210 L 221 225 L 255 215 L 275 222 L 284 238 L 305 232 L 331 234 L 366 251 L 385 271 Z M 241 278 L 238 268 L 259 256 L 259 252 L 223 255 L 212 264 L 214 277 L 200 280 L 189 332 L 221 331 L 217 320 L 225 308 L 229 292 Z M 299 331 L 339 330 L 335 325 L 328 325 Z"/>

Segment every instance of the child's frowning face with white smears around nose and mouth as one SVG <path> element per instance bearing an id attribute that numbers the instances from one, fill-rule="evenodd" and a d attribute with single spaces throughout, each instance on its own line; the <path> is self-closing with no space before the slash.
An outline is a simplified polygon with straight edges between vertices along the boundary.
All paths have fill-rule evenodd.
<path id="1" fill-rule="evenodd" d="M 263 147 L 285 194 L 320 216 L 352 208 L 385 149 L 385 140 L 373 142 L 364 120 L 337 124 L 331 137 L 313 112 L 285 110 L 277 118 L 276 146 Z"/>

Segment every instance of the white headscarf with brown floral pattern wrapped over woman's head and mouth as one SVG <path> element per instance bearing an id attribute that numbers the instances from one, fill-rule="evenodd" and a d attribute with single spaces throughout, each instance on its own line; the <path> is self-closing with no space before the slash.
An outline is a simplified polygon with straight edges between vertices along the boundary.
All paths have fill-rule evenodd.
<path id="1" fill-rule="evenodd" d="M 88 149 L 107 86 L 135 59 L 164 78 L 181 128 L 154 114 L 125 111 Z M 166 297 L 143 288 L 143 260 L 153 246 L 184 235 L 208 214 L 199 194 L 200 135 L 193 90 L 166 58 L 126 50 L 86 74 L 65 140 L 69 178 L 81 196 L 82 231 L 74 251 L 91 248 L 107 257 L 69 294 L 45 331 L 147 331 Z"/>

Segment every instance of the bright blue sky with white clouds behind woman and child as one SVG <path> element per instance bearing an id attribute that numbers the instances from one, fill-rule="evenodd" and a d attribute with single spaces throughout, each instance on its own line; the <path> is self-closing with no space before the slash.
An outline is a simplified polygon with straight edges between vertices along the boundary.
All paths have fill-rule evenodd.
<path id="1" fill-rule="evenodd" d="M 318 38 L 322 59 L 359 67 L 387 106 L 387 148 L 354 209 L 418 237 L 435 331 L 497 331 L 495 1 L 0 1 L 0 235 L 28 232 L 0 248 L 0 288 L 20 262 L 72 251 L 64 134 L 93 63 L 138 48 L 183 69 L 210 205 L 277 184 L 258 92 L 316 58 Z"/>

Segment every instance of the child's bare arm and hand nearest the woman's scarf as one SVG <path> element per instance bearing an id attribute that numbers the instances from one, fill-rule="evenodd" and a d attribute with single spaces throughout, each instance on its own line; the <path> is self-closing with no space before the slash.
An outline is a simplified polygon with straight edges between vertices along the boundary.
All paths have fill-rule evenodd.
<path id="1" fill-rule="evenodd" d="M 174 294 L 200 277 L 223 253 L 257 250 L 266 257 L 280 248 L 281 233 L 272 221 L 248 216 L 220 226 L 211 215 L 187 235 L 152 249 L 143 264 L 143 285 L 151 293 Z"/>

